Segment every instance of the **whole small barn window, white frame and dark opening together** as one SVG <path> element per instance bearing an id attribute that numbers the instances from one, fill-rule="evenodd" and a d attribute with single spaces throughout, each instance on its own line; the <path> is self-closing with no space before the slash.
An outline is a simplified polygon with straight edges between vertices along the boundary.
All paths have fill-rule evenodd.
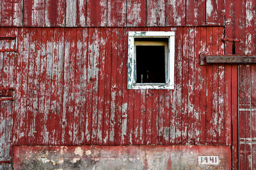
<path id="1" fill-rule="evenodd" d="M 174 32 L 129 32 L 128 89 L 173 89 Z"/>

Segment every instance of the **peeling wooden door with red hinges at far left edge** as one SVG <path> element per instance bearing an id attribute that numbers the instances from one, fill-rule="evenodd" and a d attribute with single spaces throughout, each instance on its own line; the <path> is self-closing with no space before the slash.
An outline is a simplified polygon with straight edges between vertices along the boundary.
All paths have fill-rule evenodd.
<path id="1" fill-rule="evenodd" d="M 15 36 L 0 32 L 0 169 L 11 169 Z"/>

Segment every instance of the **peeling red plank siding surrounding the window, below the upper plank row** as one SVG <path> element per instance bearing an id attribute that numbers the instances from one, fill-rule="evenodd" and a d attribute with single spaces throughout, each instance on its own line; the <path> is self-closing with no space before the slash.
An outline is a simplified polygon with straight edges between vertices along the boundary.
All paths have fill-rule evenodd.
<path id="1" fill-rule="evenodd" d="M 130 30 L 176 32 L 175 90 L 127 90 Z M 230 70 L 199 66 L 200 53 L 224 52 L 223 27 L 0 31 L 19 50 L 1 55 L 15 86 L 14 145 L 231 144 Z"/>

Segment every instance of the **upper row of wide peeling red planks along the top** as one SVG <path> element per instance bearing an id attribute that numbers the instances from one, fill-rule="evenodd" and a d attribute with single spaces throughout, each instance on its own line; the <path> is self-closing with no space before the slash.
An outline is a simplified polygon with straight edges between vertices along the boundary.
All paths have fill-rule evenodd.
<path id="1" fill-rule="evenodd" d="M 0 25 L 6 27 L 198 26 L 224 25 L 225 19 L 225 0 L 1 0 L 0 2 L 2 6 Z"/>

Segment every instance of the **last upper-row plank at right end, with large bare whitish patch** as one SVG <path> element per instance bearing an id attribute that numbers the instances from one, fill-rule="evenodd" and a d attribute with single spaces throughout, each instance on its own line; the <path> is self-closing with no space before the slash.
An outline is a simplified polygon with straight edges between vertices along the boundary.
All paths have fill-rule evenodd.
<path id="1" fill-rule="evenodd" d="M 206 24 L 224 25 L 225 23 L 225 0 L 206 1 Z"/>

